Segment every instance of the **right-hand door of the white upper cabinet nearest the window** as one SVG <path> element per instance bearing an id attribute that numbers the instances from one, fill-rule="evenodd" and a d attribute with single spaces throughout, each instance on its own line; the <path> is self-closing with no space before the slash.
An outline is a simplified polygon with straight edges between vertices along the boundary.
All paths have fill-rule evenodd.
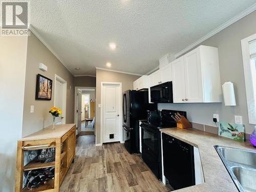
<path id="1" fill-rule="evenodd" d="M 186 102 L 203 102 L 203 83 L 201 72 L 200 49 L 195 49 L 184 56 Z"/>

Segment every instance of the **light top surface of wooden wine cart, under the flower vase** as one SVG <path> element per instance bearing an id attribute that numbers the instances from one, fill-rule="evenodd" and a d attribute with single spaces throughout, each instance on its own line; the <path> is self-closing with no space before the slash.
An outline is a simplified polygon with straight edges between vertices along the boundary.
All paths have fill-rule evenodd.
<path id="1" fill-rule="evenodd" d="M 28 135 L 22 139 L 19 139 L 20 141 L 26 141 L 26 140 L 39 140 L 39 139 L 49 139 L 49 138 L 60 138 L 63 135 L 65 135 L 69 130 L 71 130 L 76 124 L 59 124 L 55 125 L 55 129 L 52 129 L 52 125 L 35 132 L 31 135 Z"/>

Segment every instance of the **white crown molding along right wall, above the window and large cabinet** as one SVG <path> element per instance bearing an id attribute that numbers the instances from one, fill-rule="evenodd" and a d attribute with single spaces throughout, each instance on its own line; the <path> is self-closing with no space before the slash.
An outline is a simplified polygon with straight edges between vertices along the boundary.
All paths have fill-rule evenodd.
<path id="1" fill-rule="evenodd" d="M 249 8 L 244 10 L 243 12 L 241 12 L 238 15 L 234 16 L 233 18 L 229 19 L 227 22 L 225 22 L 221 26 L 219 26 L 216 29 L 212 30 L 211 32 L 207 33 L 202 38 L 200 38 L 197 41 L 193 42 L 193 44 L 187 46 L 185 49 L 183 49 L 180 52 L 178 52 L 177 54 L 175 54 L 175 57 L 177 58 L 177 57 L 183 55 L 187 51 L 189 51 L 189 50 L 193 49 L 194 47 L 198 46 L 199 44 L 201 44 L 201 42 L 203 42 L 204 40 L 210 38 L 211 36 L 214 36 L 215 34 L 219 33 L 220 31 L 222 31 L 223 29 L 225 29 L 228 26 L 232 25 L 233 23 L 236 23 L 238 20 L 240 20 L 241 18 L 245 17 L 246 15 L 250 14 L 251 12 L 253 12 L 255 10 L 256 10 L 256 4 L 253 4 L 252 6 L 250 6 Z"/>

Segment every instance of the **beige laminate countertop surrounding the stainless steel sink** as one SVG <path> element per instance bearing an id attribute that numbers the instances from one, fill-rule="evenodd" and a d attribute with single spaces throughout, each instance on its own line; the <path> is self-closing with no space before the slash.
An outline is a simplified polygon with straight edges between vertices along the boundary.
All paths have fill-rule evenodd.
<path id="1" fill-rule="evenodd" d="M 205 183 L 177 191 L 238 191 L 214 145 L 229 146 L 256 151 L 249 142 L 238 142 L 196 129 L 161 129 L 161 132 L 199 148 Z"/>

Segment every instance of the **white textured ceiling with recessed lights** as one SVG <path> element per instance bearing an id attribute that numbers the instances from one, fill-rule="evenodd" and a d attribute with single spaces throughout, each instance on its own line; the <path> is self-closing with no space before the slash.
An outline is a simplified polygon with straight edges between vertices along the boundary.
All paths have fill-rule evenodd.
<path id="1" fill-rule="evenodd" d="M 74 75 L 95 67 L 145 74 L 255 0 L 33 0 L 31 24 Z M 111 51 L 109 43 L 117 49 Z M 47 63 L 46 63 L 47 65 Z M 81 70 L 75 70 L 80 67 Z"/>

